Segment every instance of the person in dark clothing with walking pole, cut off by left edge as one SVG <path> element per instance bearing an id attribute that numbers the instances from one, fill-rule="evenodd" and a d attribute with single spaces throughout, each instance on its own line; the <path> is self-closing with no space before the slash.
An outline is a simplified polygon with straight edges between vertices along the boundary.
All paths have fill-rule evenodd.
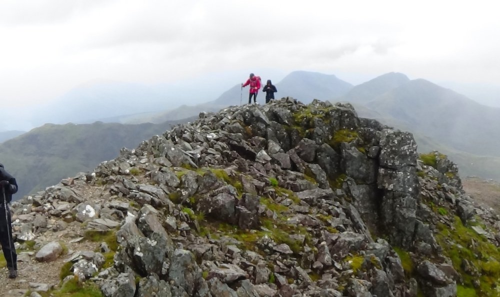
<path id="1" fill-rule="evenodd" d="M 17 255 L 15 254 L 14 241 L 12 240 L 12 222 L 8 203 L 12 200 L 12 194 L 17 192 L 17 182 L 0 164 L 0 243 L 7 262 L 8 277 L 17 277 Z"/>

